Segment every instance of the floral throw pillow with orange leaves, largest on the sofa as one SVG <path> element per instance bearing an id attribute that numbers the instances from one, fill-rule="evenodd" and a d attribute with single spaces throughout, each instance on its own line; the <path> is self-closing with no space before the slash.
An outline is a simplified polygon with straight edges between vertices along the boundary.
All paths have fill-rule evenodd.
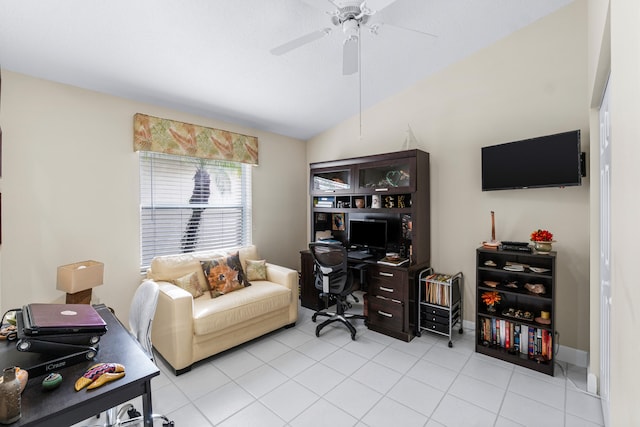
<path id="1" fill-rule="evenodd" d="M 251 283 L 245 278 L 237 252 L 226 258 L 200 261 L 200 264 L 204 277 L 209 282 L 211 298 L 217 298 L 220 295 L 251 286 Z"/>

